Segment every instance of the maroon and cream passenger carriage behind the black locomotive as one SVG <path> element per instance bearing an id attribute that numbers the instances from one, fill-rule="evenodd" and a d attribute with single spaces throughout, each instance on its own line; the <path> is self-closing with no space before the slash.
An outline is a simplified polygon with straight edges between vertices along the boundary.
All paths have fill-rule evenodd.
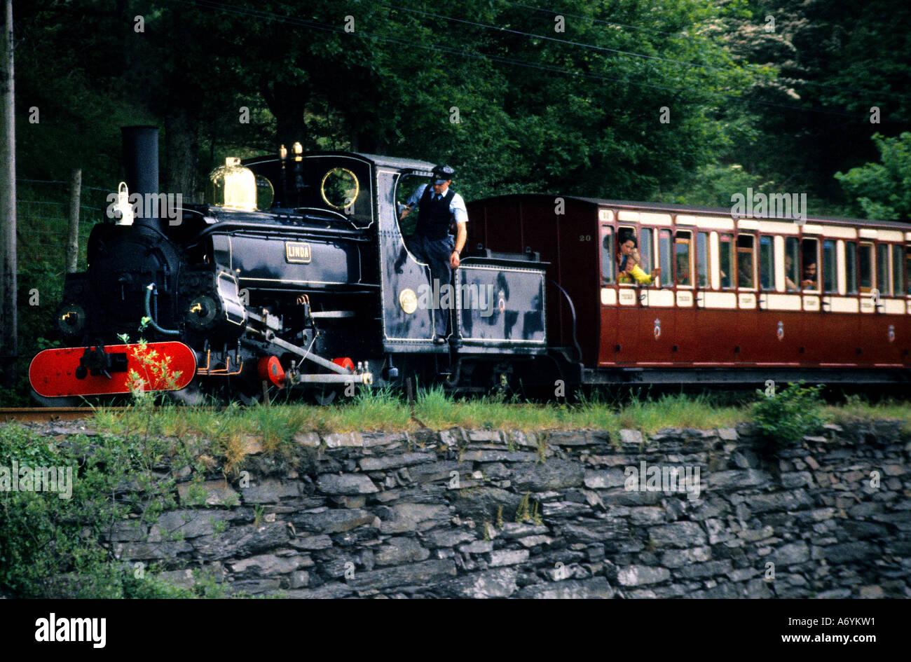
<path id="1" fill-rule="evenodd" d="M 510 195 L 468 205 L 468 246 L 537 251 L 568 382 L 906 382 L 911 231 L 855 219 Z M 634 233 L 655 285 L 617 281 Z M 815 264 L 815 282 L 804 270 Z M 559 285 L 557 285 L 559 283 Z"/>

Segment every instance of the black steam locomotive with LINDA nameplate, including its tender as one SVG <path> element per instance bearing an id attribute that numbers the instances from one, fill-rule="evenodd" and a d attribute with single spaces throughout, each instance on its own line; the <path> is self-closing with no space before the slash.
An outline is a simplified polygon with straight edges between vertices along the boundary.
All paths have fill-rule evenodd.
<path id="1" fill-rule="evenodd" d="M 254 397 L 266 382 L 332 394 L 411 376 L 482 389 L 548 353 L 537 253 L 478 247 L 439 291 L 409 252 L 398 212 L 433 164 L 282 147 L 219 168 L 217 199 L 178 208 L 159 195 L 158 129 L 125 127 L 123 143 L 122 194 L 140 204 L 113 206 L 92 229 L 87 271 L 67 274 L 58 331 L 84 351 L 60 394 L 128 370 L 117 348 L 143 320 L 149 341 L 194 352 L 185 393 Z M 438 346 L 443 307 L 454 314 Z"/>

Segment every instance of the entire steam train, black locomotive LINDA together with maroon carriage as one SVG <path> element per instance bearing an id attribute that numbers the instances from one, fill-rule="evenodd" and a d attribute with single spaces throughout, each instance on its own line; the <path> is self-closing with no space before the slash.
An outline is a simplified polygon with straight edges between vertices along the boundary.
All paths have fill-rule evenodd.
<path id="1" fill-rule="evenodd" d="M 154 197 L 157 129 L 123 137 L 128 192 Z M 297 144 L 242 166 L 229 159 L 213 175 L 216 199 L 185 205 L 179 219 L 119 206 L 121 218 L 92 230 L 87 271 L 67 274 L 56 319 L 69 348 L 33 361 L 36 394 L 128 392 L 140 361 L 120 337 L 135 337 L 143 318 L 148 347 L 184 372 L 146 388 L 182 389 L 188 402 L 200 385 L 244 399 L 304 388 L 327 402 L 350 384 L 413 376 L 549 392 L 558 380 L 907 380 L 906 226 L 502 196 L 468 204 L 466 254 L 441 287 L 398 221 L 432 168 Z M 618 241 L 630 235 L 643 268 L 662 269 L 654 286 L 618 282 Z M 811 264 L 816 280 L 805 283 Z"/>

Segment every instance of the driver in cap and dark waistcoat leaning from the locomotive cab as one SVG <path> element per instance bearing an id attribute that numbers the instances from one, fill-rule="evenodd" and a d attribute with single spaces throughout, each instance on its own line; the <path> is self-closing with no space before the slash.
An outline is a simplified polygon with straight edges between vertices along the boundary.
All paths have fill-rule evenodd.
<path id="1" fill-rule="evenodd" d="M 399 220 L 403 220 L 417 205 L 417 227 L 409 248 L 415 258 L 430 266 L 431 288 L 439 291 L 443 285 L 452 284 L 453 270 L 458 269 L 462 249 L 468 237 L 466 223 L 468 211 L 465 200 L 449 188 L 455 170 L 449 166 L 437 166 L 433 170 L 433 185 L 422 184 L 415 188 L 402 209 Z M 455 243 L 449 234 L 455 220 Z M 449 325 L 449 311 L 441 310 L 436 315 L 434 344 L 445 343 Z"/>

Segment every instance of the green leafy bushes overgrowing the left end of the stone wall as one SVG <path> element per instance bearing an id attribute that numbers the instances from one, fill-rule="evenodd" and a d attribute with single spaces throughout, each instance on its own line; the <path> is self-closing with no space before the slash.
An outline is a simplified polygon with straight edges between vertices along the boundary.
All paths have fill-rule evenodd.
<path id="1" fill-rule="evenodd" d="M 0 471 L 17 470 L 0 492 L 0 594 L 18 597 L 218 596 L 203 581 L 196 589 L 168 584 L 155 568 L 118 558 L 103 541 L 112 527 L 151 524 L 176 504 L 174 479 L 156 465 L 174 449 L 148 434 L 85 436 L 56 443 L 16 425 L 0 426 Z M 177 455 L 179 457 L 179 453 Z M 188 457 L 189 463 L 189 457 Z M 24 467 L 71 471 L 57 491 L 26 486 Z M 60 489 L 68 484 L 68 490 Z M 141 491 L 141 494 L 135 492 Z M 67 494 L 68 493 L 68 494 Z"/>

